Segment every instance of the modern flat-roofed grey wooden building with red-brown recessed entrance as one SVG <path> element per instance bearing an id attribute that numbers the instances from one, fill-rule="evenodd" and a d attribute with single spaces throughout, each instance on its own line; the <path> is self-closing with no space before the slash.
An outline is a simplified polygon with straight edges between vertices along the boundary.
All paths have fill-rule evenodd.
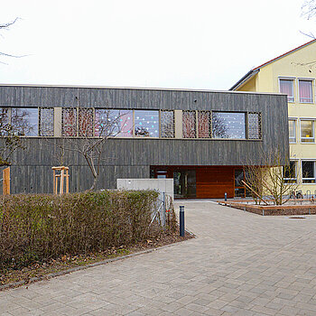
<path id="1" fill-rule="evenodd" d="M 122 118 L 122 129 L 106 141 L 98 189 L 116 188 L 117 178 L 166 177 L 177 198 L 243 196 L 244 165 L 261 165 L 275 148 L 284 162 L 289 154 L 287 98 L 278 93 L 2 85 L 0 107 L 25 144 L 14 153 L 13 193 L 52 192 L 60 153 L 51 144 L 84 141 L 85 122 L 98 137 L 105 111 Z M 87 163 L 63 154 L 70 191 L 87 190 Z"/>

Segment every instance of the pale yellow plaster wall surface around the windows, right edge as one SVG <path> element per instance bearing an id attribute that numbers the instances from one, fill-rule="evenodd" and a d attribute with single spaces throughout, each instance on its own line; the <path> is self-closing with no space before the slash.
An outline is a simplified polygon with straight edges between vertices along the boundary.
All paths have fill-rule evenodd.
<path id="1" fill-rule="evenodd" d="M 315 184 L 302 184 L 302 160 L 310 159 L 316 161 L 316 144 L 302 144 L 300 142 L 300 118 L 312 118 L 314 121 L 314 137 L 316 140 L 316 102 L 315 102 L 315 79 L 316 67 L 310 68 L 307 63 L 315 61 L 316 63 L 316 42 L 303 47 L 298 51 L 294 51 L 279 60 L 274 60 L 272 63 L 261 68 L 256 76 L 250 79 L 238 90 L 256 91 L 256 92 L 279 92 L 280 78 L 293 78 L 294 82 L 294 103 L 289 103 L 289 117 L 297 118 L 296 121 L 296 144 L 290 144 L 291 160 L 297 160 L 298 179 L 301 182 L 299 190 L 303 193 L 311 191 L 311 194 L 316 193 Z M 299 102 L 298 95 L 298 79 L 312 79 L 313 84 L 313 103 L 302 104 Z M 247 88 L 256 88 L 247 89 Z M 315 170 L 316 173 L 316 170 Z"/>

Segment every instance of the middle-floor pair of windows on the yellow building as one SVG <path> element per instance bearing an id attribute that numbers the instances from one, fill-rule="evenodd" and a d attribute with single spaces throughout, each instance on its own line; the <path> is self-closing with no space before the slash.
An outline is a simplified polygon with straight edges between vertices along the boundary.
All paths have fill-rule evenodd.
<path id="1" fill-rule="evenodd" d="M 290 143 L 297 143 L 296 126 L 299 123 L 301 143 L 315 143 L 315 120 L 313 119 L 289 119 L 289 137 Z"/>

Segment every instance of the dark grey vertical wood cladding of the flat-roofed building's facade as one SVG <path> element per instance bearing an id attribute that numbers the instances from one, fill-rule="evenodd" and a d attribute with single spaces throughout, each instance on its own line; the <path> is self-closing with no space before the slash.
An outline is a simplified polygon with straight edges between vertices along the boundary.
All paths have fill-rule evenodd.
<path id="1" fill-rule="evenodd" d="M 114 138 L 98 188 L 115 188 L 117 178 L 149 178 L 151 165 L 262 164 L 262 152 L 278 148 L 289 155 L 287 98 L 278 94 L 147 88 L 80 88 L 0 86 L 0 107 L 98 107 L 121 109 L 217 110 L 260 112 L 262 140 Z M 76 139 L 80 142 L 80 139 Z M 60 138 L 24 139 L 26 149 L 14 153 L 11 191 L 52 192 L 51 166 L 58 164 L 51 143 Z M 66 139 L 66 142 L 68 140 Z M 70 142 L 73 142 L 71 140 Z M 90 187 L 92 177 L 78 153 L 68 152 L 70 191 Z"/>

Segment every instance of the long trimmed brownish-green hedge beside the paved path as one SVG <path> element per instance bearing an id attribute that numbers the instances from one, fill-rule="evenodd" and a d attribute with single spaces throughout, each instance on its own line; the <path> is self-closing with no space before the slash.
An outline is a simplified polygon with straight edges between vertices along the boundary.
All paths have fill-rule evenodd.
<path id="1" fill-rule="evenodd" d="M 156 191 L 12 195 L 0 203 L 0 270 L 158 236 Z"/>

